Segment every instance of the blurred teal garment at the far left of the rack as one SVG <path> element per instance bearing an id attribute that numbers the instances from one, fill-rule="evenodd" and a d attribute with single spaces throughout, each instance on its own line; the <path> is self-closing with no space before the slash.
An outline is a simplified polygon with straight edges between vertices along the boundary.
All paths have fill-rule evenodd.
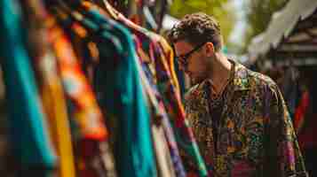
<path id="1" fill-rule="evenodd" d="M 48 128 L 36 88 L 35 73 L 25 47 L 25 33 L 17 1 L 1 0 L 0 58 L 12 130 L 12 154 L 21 163 L 20 175 L 38 174 L 40 169 L 41 176 L 49 176 L 57 159 L 46 132 Z"/>

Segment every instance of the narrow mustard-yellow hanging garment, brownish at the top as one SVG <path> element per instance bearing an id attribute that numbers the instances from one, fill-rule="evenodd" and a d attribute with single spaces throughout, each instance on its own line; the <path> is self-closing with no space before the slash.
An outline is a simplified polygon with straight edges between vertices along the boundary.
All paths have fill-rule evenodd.
<path id="1" fill-rule="evenodd" d="M 28 18 L 28 49 L 34 63 L 52 140 L 59 156 L 58 174 L 60 177 L 75 177 L 67 104 L 56 58 L 52 53 L 52 39 L 48 34 L 48 24 L 52 19 L 40 2 L 32 1 L 24 5 L 25 16 Z"/>

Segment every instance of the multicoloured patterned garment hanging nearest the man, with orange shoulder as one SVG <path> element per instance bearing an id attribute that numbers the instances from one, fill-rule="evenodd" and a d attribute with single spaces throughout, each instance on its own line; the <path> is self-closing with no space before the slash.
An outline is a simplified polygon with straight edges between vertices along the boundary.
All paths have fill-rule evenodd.
<path id="1" fill-rule="evenodd" d="M 185 118 L 184 108 L 180 101 L 179 90 L 177 89 L 178 84 L 176 84 L 176 79 L 173 79 L 176 78 L 176 76 L 174 74 L 174 77 L 172 77 L 170 73 L 170 69 L 173 69 L 169 67 L 169 65 L 173 63 L 171 61 L 173 60 L 171 48 L 162 36 L 150 33 L 144 28 L 135 27 L 135 25 L 128 19 L 125 19 L 122 14 L 119 14 L 118 18 L 126 26 L 132 27 L 132 29 L 134 28 L 133 33 L 138 35 L 140 41 L 142 41 L 142 48 L 148 51 L 151 60 L 155 63 L 157 87 L 162 95 L 162 102 L 166 107 L 170 122 L 174 128 L 183 162 L 190 161 L 196 166 L 201 176 L 206 176 L 206 166 L 204 165 L 202 156 L 194 140 L 193 132 Z M 166 56 L 169 56 L 170 59 L 168 60 Z M 170 61 L 170 64 L 168 61 Z M 175 160 L 174 165 L 179 166 L 176 165 L 179 164 L 176 161 L 177 158 L 173 159 Z"/>

